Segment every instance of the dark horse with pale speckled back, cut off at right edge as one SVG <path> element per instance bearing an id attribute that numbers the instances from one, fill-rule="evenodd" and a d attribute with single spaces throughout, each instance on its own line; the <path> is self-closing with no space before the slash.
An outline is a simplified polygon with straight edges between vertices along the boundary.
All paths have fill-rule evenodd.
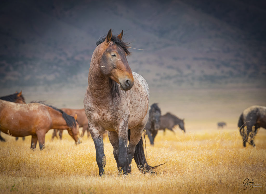
<path id="1" fill-rule="evenodd" d="M 254 137 L 260 127 L 266 129 L 266 107 L 251 106 L 246 108 L 240 115 L 238 127 L 243 138 L 243 146 L 246 147 L 246 142 L 255 146 Z"/>

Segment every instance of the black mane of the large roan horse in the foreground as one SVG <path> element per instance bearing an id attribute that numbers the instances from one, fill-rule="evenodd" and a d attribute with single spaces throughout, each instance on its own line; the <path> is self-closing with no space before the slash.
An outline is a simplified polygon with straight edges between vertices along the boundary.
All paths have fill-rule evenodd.
<path id="1" fill-rule="evenodd" d="M 106 36 L 100 37 L 96 45 L 98 46 L 99 44 L 103 43 L 106 39 Z M 120 40 L 117 36 L 112 35 L 111 41 L 113 41 L 114 44 L 117 44 L 118 46 L 122 47 L 122 49 L 126 52 L 126 54 L 129 56 L 131 52 L 127 49 L 129 48 L 129 43 L 125 43 L 122 40 Z M 119 85 L 117 82 L 115 82 L 113 79 L 109 78 L 109 83 L 110 83 L 110 88 L 112 88 L 112 99 L 120 99 L 120 92 L 119 92 Z"/>

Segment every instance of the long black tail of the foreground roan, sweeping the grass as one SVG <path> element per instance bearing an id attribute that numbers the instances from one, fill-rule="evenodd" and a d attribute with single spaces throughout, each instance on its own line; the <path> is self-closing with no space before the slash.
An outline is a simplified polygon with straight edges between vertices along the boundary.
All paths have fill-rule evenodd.
<path id="1" fill-rule="evenodd" d="M 130 140 L 130 129 L 128 129 L 128 141 L 129 140 Z M 165 163 L 157 165 L 157 166 L 148 165 L 148 162 L 147 162 L 145 154 L 144 154 L 142 136 L 139 140 L 139 143 L 136 145 L 136 150 L 135 150 L 133 158 L 134 158 L 134 160 L 138 166 L 138 169 L 143 173 L 149 172 L 149 173 L 153 174 L 153 173 L 155 173 L 155 171 L 153 171 L 153 169 L 155 169 L 158 166 L 164 165 L 166 163 L 165 162 Z"/>

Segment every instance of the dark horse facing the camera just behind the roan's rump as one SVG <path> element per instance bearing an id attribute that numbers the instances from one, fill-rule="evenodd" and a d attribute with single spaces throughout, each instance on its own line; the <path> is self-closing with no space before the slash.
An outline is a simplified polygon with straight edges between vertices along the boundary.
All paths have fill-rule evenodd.
<path id="1" fill-rule="evenodd" d="M 151 145 L 154 145 L 154 138 L 160 129 L 161 123 L 161 109 L 158 107 L 157 103 L 151 105 L 149 110 L 149 120 L 145 126 L 146 133 L 149 137 Z"/>

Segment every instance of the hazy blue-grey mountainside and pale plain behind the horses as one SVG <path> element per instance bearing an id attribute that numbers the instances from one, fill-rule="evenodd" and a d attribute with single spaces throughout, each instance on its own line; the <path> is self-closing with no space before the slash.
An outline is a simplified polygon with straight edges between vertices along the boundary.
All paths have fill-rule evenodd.
<path id="1" fill-rule="evenodd" d="M 97 39 L 124 30 L 128 63 L 150 86 L 150 104 L 190 123 L 236 126 L 266 106 L 266 2 L 1 1 L 0 96 L 83 108 Z"/>

